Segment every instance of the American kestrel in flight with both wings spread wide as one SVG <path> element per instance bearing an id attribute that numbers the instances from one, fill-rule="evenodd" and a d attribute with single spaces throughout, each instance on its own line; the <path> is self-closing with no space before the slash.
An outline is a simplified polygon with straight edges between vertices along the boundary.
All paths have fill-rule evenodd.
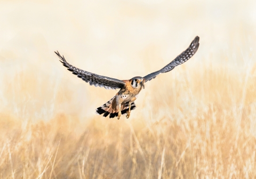
<path id="1" fill-rule="evenodd" d="M 113 98 L 96 109 L 96 113 L 98 115 L 103 114 L 103 117 L 107 117 L 109 115 L 109 118 L 117 117 L 117 119 L 119 119 L 121 114 L 124 115 L 125 113 L 126 118 L 130 117 L 131 110 L 136 108 L 134 101 L 138 98 L 142 87 L 143 89 L 145 88 L 146 82 L 155 78 L 157 75 L 171 71 L 179 64 L 186 62 L 196 53 L 198 47 L 199 37 L 196 36 L 187 50 L 182 52 L 179 56 L 177 56 L 177 58 L 175 58 L 171 63 L 167 64 L 164 68 L 145 77 L 137 76 L 131 78 L 130 80 L 109 78 L 78 69 L 74 66 L 71 66 L 71 64 L 69 64 L 65 60 L 64 56 L 61 56 L 58 51 L 55 53 L 59 56 L 60 62 L 63 63 L 63 66 L 67 67 L 68 70 L 72 71 L 74 75 L 77 75 L 77 77 L 82 78 L 86 83 L 89 82 L 90 85 L 105 87 L 106 89 L 121 89 Z"/>

